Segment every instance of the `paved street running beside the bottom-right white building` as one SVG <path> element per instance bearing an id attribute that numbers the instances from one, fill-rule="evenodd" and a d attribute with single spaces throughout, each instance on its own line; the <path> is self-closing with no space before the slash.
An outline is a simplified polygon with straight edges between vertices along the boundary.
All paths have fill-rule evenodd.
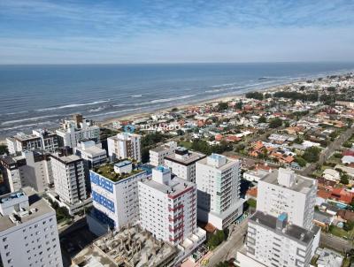
<path id="1" fill-rule="evenodd" d="M 244 235 L 247 231 L 247 219 L 241 225 L 236 225 L 230 237 L 213 251 L 213 255 L 209 259 L 207 266 L 215 266 L 216 264 L 234 258 L 236 252 L 243 245 Z"/>

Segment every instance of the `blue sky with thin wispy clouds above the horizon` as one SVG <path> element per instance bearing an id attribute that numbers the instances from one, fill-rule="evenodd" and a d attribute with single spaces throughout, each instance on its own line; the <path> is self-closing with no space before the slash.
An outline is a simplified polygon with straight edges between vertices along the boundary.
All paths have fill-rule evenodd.
<path id="1" fill-rule="evenodd" d="M 354 1 L 0 0 L 0 64 L 354 61 Z"/>

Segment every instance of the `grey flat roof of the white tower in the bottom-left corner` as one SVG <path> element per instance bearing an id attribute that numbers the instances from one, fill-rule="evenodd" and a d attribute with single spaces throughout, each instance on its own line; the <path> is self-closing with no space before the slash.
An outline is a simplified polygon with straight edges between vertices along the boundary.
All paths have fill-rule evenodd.
<path id="1" fill-rule="evenodd" d="M 12 194 L 19 194 L 19 195 L 24 194 L 28 196 L 28 202 L 29 202 L 29 208 L 27 210 L 28 214 L 23 217 L 16 216 L 16 218 L 19 219 L 19 225 L 27 223 L 28 221 L 35 219 L 35 217 L 41 217 L 42 215 L 47 213 L 55 214 L 55 211 L 52 208 L 50 208 L 50 205 L 45 200 L 41 199 L 37 195 L 35 190 L 33 190 L 30 187 L 25 187 L 21 191 Z M 10 216 L 0 215 L 0 232 L 10 229 L 16 225 L 17 224 L 12 222 Z"/>

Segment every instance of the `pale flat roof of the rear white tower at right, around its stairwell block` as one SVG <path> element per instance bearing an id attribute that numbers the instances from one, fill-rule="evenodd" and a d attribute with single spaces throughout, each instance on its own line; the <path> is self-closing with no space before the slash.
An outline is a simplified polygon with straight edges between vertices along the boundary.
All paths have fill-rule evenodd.
<path id="1" fill-rule="evenodd" d="M 259 181 L 264 181 L 269 184 L 283 187 L 278 183 L 278 170 L 274 170 L 273 172 L 270 172 L 268 175 L 266 175 L 264 178 L 260 179 Z M 286 187 L 286 188 L 306 194 L 312 189 L 312 187 L 314 187 L 314 179 L 306 178 L 304 176 L 296 174 L 296 183 L 294 183 L 291 187 Z"/>

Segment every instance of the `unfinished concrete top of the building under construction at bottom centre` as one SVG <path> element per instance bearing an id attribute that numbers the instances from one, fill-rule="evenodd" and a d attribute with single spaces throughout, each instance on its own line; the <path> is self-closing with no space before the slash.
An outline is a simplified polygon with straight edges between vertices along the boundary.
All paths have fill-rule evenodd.
<path id="1" fill-rule="evenodd" d="M 149 232 L 135 225 L 100 237 L 92 245 L 81 250 L 73 258 L 73 263 L 92 266 L 89 264 L 99 262 L 104 267 L 169 266 L 168 263 L 173 262 L 177 252 L 176 247 L 156 240 Z"/>

